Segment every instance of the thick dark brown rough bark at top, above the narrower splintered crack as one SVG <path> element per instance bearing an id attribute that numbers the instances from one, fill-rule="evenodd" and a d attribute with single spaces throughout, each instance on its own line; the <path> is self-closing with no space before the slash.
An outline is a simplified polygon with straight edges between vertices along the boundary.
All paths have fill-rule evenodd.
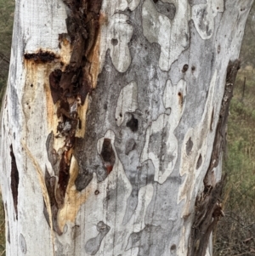
<path id="1" fill-rule="evenodd" d="M 91 64 L 88 59 L 99 33 L 99 11 L 102 0 L 82 2 L 65 0 L 64 3 L 71 9 L 66 19 L 68 35 L 60 35 L 59 40 L 69 37 L 73 51 L 69 65 L 65 66 L 61 75 L 59 70 L 53 71 L 49 76 L 49 83 L 53 90 L 54 103 L 63 97 L 78 96 L 83 104 L 87 94 L 92 91 L 89 74 Z"/>

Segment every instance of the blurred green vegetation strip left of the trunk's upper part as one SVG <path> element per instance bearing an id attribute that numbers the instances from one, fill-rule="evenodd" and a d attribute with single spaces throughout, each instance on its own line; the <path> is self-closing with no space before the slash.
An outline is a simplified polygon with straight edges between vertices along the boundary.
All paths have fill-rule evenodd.
<path id="1" fill-rule="evenodd" d="M 0 0 L 0 105 L 8 79 L 8 62 L 14 23 L 14 6 L 14 0 Z"/>

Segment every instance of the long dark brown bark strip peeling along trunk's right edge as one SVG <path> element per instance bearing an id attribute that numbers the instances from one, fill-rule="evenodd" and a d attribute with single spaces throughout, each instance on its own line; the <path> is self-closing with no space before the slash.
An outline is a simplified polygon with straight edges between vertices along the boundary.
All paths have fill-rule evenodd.
<path id="1" fill-rule="evenodd" d="M 190 236 L 190 250 L 188 256 L 205 256 L 209 237 L 220 217 L 224 213 L 219 202 L 224 179 L 215 184 L 213 169 L 218 167 L 220 156 L 226 143 L 226 123 L 229 116 L 229 104 L 233 96 L 233 88 L 237 71 L 240 69 L 240 60 L 229 61 L 227 68 L 224 97 L 219 112 L 218 125 L 212 148 L 212 157 L 207 175 L 204 179 L 204 191 L 195 202 L 195 220 Z M 212 111 L 213 118 L 213 111 Z M 211 123 L 212 126 L 212 123 Z"/>

